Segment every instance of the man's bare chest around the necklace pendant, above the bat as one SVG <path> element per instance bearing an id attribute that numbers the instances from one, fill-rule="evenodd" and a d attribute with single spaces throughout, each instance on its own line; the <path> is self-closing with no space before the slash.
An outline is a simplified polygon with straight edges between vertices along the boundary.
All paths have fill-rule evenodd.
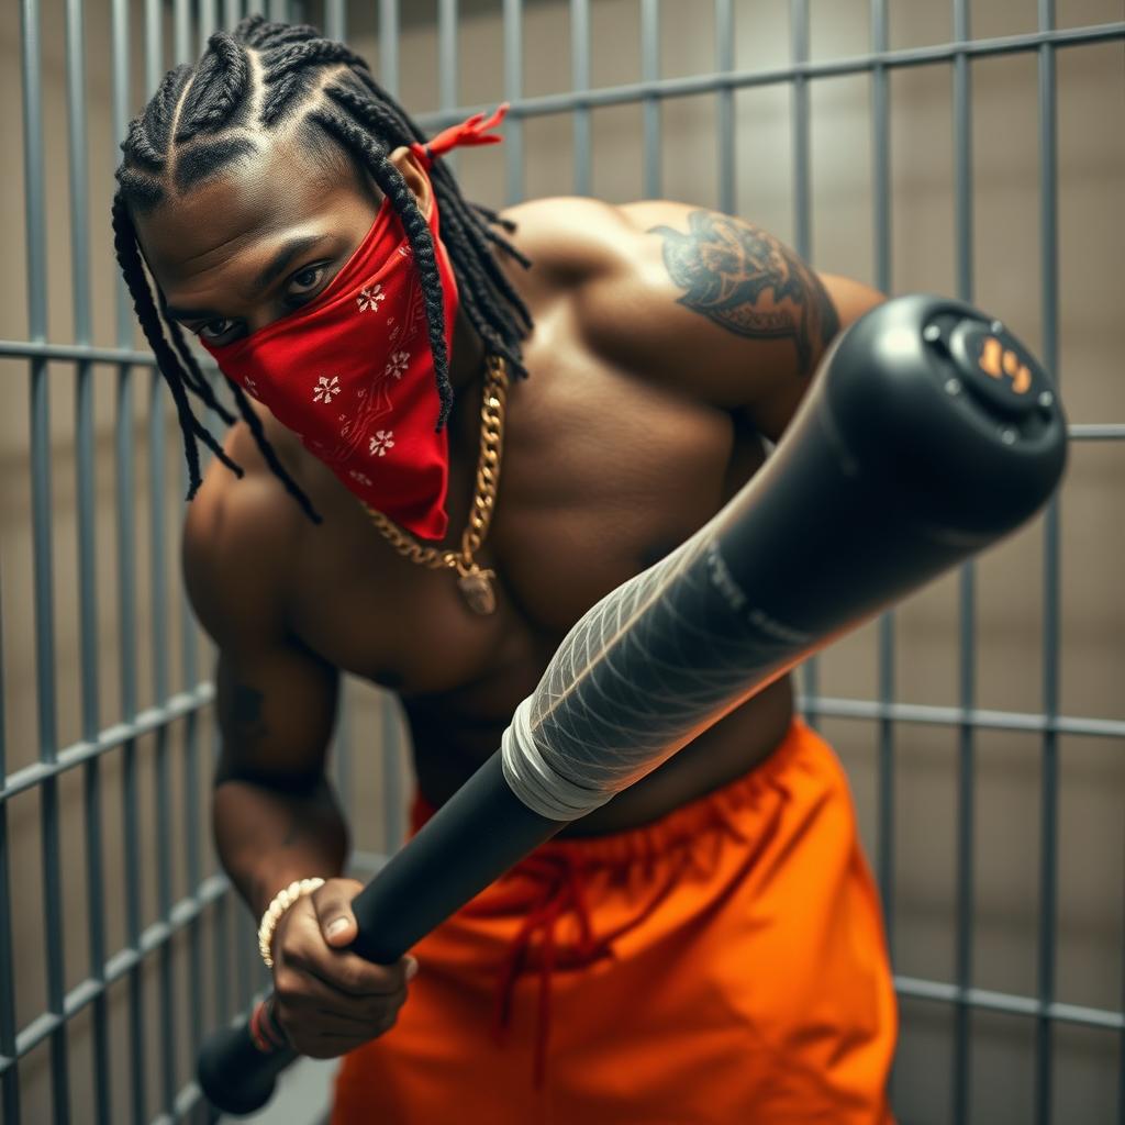
<path id="1" fill-rule="evenodd" d="M 325 659 L 406 696 L 518 700 L 590 606 L 682 542 L 760 465 L 760 443 L 728 415 L 548 344 L 529 349 L 531 377 L 513 385 L 504 413 L 478 552 L 495 570 L 495 613 L 474 613 L 452 570 L 402 557 L 374 524 L 330 521 L 290 570 L 291 626 Z M 476 487 L 470 423 L 461 444 L 453 435 L 454 540 Z"/>

